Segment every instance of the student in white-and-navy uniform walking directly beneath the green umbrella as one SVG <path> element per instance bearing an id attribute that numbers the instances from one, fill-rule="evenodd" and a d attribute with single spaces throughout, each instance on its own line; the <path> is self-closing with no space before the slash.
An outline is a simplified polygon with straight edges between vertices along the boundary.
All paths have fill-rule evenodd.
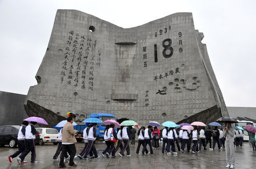
<path id="1" fill-rule="evenodd" d="M 130 147 L 129 147 L 129 140 L 131 140 L 131 132 L 130 129 L 127 126 L 121 126 L 121 137 L 123 139 L 124 146 L 121 149 L 120 153 L 118 155 L 122 157 L 122 154 L 126 150 L 126 156 L 131 156 L 130 154 Z"/>

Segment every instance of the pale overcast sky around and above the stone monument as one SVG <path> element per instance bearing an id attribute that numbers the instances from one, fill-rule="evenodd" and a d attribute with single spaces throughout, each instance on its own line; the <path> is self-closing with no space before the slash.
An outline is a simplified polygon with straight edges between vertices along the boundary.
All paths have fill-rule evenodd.
<path id="1" fill-rule="evenodd" d="M 27 94 L 44 57 L 57 9 L 76 9 L 121 27 L 192 12 L 204 33 L 227 106 L 256 107 L 256 1 L 0 0 L 0 91 Z"/>

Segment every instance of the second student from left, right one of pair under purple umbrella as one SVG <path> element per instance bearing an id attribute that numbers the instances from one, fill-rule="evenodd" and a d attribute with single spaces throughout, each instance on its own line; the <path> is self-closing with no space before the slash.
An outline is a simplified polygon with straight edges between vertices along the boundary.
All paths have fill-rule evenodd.
<path id="1" fill-rule="evenodd" d="M 26 127 L 25 131 L 25 138 L 26 138 L 26 150 L 22 152 L 22 154 L 17 158 L 18 163 L 22 163 L 24 161 L 25 157 L 31 152 L 31 163 L 37 163 L 35 160 L 36 153 L 35 153 L 35 135 L 36 135 L 36 129 L 35 125 L 36 122 L 30 122 L 30 124 Z"/>

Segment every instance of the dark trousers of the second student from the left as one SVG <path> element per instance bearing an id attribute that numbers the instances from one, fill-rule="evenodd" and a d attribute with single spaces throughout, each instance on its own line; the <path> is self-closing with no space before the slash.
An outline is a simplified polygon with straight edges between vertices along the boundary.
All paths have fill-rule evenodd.
<path id="1" fill-rule="evenodd" d="M 22 154 L 19 156 L 19 158 L 23 161 L 25 157 L 31 152 L 31 161 L 35 162 L 35 141 L 34 139 L 26 139 L 26 150 L 22 152 Z"/>

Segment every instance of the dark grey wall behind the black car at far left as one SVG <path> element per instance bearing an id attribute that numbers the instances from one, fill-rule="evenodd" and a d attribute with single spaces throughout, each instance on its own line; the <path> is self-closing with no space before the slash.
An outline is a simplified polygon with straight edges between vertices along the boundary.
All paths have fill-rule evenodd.
<path id="1" fill-rule="evenodd" d="M 28 118 L 24 108 L 26 95 L 0 91 L 0 125 L 20 125 Z"/>

